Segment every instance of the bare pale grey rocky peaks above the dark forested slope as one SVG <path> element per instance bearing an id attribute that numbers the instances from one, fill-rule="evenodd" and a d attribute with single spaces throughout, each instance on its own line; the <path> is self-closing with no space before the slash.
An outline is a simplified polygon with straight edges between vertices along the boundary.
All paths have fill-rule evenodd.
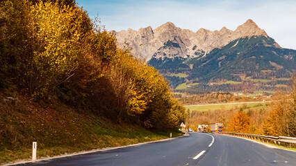
<path id="1" fill-rule="evenodd" d="M 115 32 L 120 48 L 131 48 L 131 53 L 140 59 L 149 61 L 151 57 L 199 57 L 204 56 L 213 48 L 221 48 L 229 42 L 252 36 L 268 36 L 251 19 L 232 31 L 225 27 L 221 30 L 206 30 L 197 32 L 177 28 L 167 22 L 156 29 L 151 26 L 137 30 L 122 30 Z M 204 55 L 201 55 L 203 53 Z"/>

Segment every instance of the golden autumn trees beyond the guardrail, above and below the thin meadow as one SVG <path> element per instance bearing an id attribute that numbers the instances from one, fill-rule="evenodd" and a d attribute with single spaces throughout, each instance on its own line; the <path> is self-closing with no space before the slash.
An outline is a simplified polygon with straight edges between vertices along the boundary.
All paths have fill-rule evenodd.
<path id="1" fill-rule="evenodd" d="M 227 109 L 211 109 L 208 111 L 192 111 L 188 116 L 188 123 L 192 129 L 197 130 L 198 124 L 211 124 L 220 122 L 224 124 L 225 131 L 237 133 L 255 133 L 266 136 L 289 136 L 296 135 L 296 79 L 289 87 L 290 93 L 278 91 L 272 98 L 272 102 L 258 103 L 254 107 L 244 104 L 242 107 Z M 218 98 L 220 96 L 220 98 Z M 231 100 L 229 94 L 217 94 L 190 96 L 190 101 L 204 102 L 213 100 L 223 102 Z M 247 98 L 234 98 L 241 101 L 249 101 Z M 262 100 L 262 99 L 261 99 Z M 189 112 L 189 110 L 188 110 Z"/>

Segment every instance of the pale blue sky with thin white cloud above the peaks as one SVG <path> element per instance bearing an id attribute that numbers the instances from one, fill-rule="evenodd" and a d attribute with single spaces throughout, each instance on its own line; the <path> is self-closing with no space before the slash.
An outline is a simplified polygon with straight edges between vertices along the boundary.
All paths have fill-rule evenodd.
<path id="1" fill-rule="evenodd" d="M 235 30 L 247 19 L 283 48 L 296 49 L 295 0 L 77 0 L 91 18 L 98 16 L 107 30 L 127 30 L 170 21 L 193 31 L 199 28 Z"/>

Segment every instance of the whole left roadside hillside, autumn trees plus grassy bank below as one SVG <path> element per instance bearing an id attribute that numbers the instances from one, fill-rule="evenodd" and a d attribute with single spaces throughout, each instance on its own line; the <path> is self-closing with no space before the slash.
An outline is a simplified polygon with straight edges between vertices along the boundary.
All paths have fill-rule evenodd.
<path id="1" fill-rule="evenodd" d="M 186 120 L 167 81 L 73 0 L 0 2 L 0 162 L 165 138 Z M 90 143 L 91 142 L 91 143 Z"/>

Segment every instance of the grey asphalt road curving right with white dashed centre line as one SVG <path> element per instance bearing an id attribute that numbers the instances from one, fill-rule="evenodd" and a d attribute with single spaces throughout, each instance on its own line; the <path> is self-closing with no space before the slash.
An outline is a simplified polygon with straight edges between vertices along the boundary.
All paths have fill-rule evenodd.
<path id="1" fill-rule="evenodd" d="M 296 165 L 296 152 L 220 134 L 190 136 L 22 165 Z"/>

